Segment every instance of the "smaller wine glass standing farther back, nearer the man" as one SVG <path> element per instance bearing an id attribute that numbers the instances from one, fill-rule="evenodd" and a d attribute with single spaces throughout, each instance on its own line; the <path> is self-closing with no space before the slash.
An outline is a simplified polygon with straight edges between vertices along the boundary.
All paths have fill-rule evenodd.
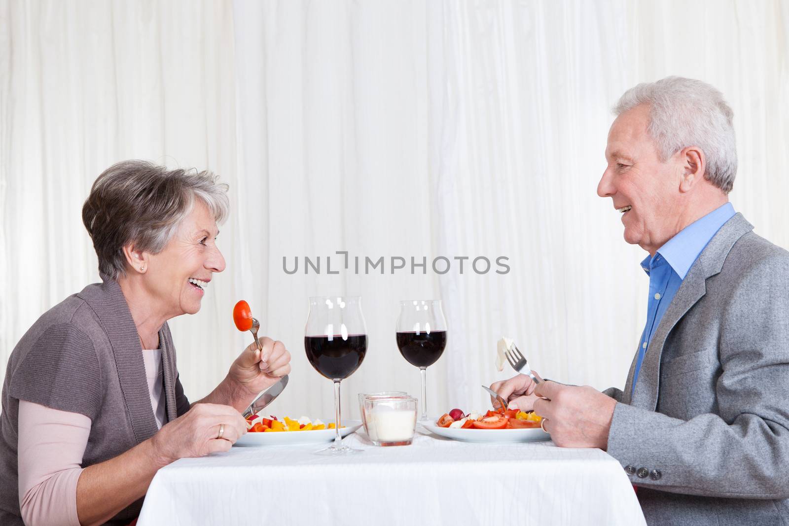
<path id="1" fill-rule="evenodd" d="M 401 301 L 396 330 L 400 354 L 421 372 L 422 416 L 419 420 L 428 420 L 426 370 L 436 363 L 447 346 L 447 319 L 441 309 L 441 300 Z"/>

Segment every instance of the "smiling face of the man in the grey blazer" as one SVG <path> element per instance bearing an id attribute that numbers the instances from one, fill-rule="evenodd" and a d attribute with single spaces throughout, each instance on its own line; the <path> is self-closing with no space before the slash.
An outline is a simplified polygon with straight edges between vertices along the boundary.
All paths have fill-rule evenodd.
<path id="1" fill-rule="evenodd" d="M 608 162 L 597 195 L 611 197 L 622 213 L 625 241 L 653 254 L 677 229 L 679 181 L 677 159 L 660 162 L 647 131 L 649 106 L 620 114 L 608 132 Z"/>

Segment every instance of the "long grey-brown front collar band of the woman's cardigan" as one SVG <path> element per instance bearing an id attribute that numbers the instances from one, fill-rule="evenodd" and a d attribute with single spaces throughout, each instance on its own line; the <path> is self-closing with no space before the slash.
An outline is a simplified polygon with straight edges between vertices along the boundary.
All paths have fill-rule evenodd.
<path id="1" fill-rule="evenodd" d="M 140 337 L 120 285 L 108 276 L 102 278 L 102 285 L 88 286 L 78 296 L 92 308 L 107 333 L 129 422 L 139 444 L 159 431 L 145 378 Z"/>

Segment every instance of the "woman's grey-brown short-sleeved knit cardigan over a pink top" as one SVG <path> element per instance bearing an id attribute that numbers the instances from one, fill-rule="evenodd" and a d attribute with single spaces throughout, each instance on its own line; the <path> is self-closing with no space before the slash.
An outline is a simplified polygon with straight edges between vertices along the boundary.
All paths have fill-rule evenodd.
<path id="1" fill-rule="evenodd" d="M 88 285 L 55 305 L 24 334 L 9 358 L 0 414 L 0 524 L 22 524 L 17 488 L 19 401 L 91 419 L 82 467 L 106 461 L 157 431 L 140 339 L 120 286 Z M 170 328 L 159 330 L 166 418 L 189 410 Z M 128 524 L 143 499 L 107 524 Z"/>

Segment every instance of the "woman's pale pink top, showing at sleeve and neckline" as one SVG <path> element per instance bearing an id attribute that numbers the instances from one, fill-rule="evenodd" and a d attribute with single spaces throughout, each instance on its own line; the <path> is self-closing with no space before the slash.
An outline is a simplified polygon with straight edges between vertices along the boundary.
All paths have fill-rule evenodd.
<path id="1" fill-rule="evenodd" d="M 143 361 L 156 424 L 165 420 L 162 350 L 144 349 Z M 19 401 L 19 502 L 25 524 L 80 526 L 77 480 L 88 444 L 91 419 Z"/>

